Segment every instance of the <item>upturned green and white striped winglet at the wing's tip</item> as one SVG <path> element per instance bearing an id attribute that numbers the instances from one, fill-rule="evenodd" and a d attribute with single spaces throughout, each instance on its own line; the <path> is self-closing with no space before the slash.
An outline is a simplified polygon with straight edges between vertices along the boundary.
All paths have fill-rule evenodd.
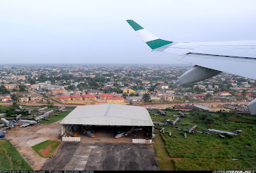
<path id="1" fill-rule="evenodd" d="M 129 25 L 142 38 L 142 40 L 146 42 L 146 45 L 150 46 L 150 49 L 158 49 L 164 45 L 169 45 L 173 43 L 173 41 L 162 40 L 154 36 L 152 33 L 144 29 L 142 26 L 138 25 L 138 23 L 134 22 L 133 20 L 126 20 L 126 22 L 128 22 Z"/>

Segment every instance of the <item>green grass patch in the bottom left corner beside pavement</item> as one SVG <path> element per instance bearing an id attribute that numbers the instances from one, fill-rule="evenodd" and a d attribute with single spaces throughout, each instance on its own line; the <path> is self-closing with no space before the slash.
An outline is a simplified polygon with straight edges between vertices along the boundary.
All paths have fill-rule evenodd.
<path id="1" fill-rule="evenodd" d="M 22 155 L 8 140 L 0 140 L 1 171 L 33 171 Z"/>

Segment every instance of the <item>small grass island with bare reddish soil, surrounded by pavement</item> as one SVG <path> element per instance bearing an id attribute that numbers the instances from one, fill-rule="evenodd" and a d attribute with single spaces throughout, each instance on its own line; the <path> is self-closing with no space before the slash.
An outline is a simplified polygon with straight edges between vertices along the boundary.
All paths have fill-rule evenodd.
<path id="1" fill-rule="evenodd" d="M 54 154 L 55 149 L 61 141 L 58 140 L 46 140 L 40 144 L 34 145 L 32 148 L 43 158 L 48 158 Z"/>

